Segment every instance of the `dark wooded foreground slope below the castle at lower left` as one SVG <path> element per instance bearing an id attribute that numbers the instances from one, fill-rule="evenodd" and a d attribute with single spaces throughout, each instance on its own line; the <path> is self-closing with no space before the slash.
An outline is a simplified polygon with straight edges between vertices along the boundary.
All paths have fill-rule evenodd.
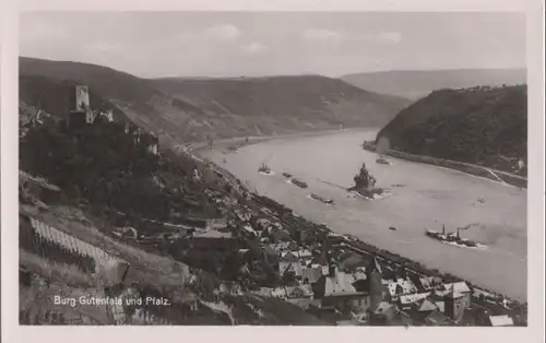
<path id="1" fill-rule="evenodd" d="M 252 293 L 283 281 L 270 260 L 263 260 L 262 248 L 240 234 L 241 227 L 234 228 L 233 239 L 219 243 L 224 249 L 214 250 L 215 239 L 207 240 L 212 249 L 193 248 L 192 235 L 206 230 L 200 224 L 234 215 L 227 206 L 237 203 L 238 193 L 189 157 L 151 154 L 145 135 L 135 141 L 116 122 L 80 128 L 48 122 L 31 128 L 20 139 L 20 220 L 24 218 L 20 265 L 27 276 L 20 283 L 22 323 L 48 322 L 47 314 L 54 311 L 76 312 L 100 324 L 142 324 L 141 320 L 152 324 L 323 324 L 298 306 Z M 200 169 L 200 180 L 190 176 L 193 167 Z M 46 238 L 33 224 L 36 221 L 48 227 Z M 134 236 L 122 235 L 123 228 L 131 228 Z M 247 250 L 258 258 L 251 262 L 239 258 L 237 246 L 225 248 L 226 241 L 248 244 Z M 130 269 L 121 283 L 103 287 L 105 273 L 90 276 L 96 260 L 67 248 L 82 245 L 127 261 Z M 40 282 L 48 286 L 39 286 Z M 122 297 L 134 292 L 142 298 L 164 297 L 170 305 L 140 306 L 139 311 L 153 316 L 145 319 L 133 316 L 135 308 L 124 308 L 124 321 L 118 322 L 97 314 L 106 307 L 95 306 L 90 312 L 85 306 L 72 310 L 45 301 L 56 294 Z M 192 301 L 194 306 L 189 307 Z"/>

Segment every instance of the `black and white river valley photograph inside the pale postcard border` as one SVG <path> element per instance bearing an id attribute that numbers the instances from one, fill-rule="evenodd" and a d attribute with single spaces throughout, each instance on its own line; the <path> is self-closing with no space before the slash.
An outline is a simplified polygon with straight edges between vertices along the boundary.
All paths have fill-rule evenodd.
<path id="1" fill-rule="evenodd" d="M 20 13 L 19 324 L 527 327 L 526 25 Z"/>

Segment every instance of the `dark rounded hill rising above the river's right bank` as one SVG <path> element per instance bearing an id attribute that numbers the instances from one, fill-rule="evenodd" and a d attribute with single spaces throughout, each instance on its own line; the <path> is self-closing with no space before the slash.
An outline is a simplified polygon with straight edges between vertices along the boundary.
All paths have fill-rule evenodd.
<path id="1" fill-rule="evenodd" d="M 514 173 L 518 159 L 526 164 L 526 85 L 436 91 L 377 138 L 388 138 L 393 150 Z"/>

